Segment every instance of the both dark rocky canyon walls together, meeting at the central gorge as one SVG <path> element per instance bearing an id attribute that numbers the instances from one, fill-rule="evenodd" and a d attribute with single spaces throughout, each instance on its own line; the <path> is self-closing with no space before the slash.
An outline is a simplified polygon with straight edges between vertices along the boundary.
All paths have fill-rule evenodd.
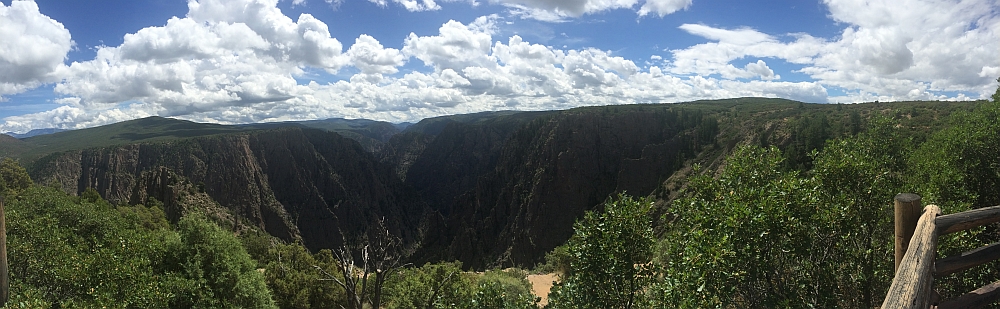
<path id="1" fill-rule="evenodd" d="M 702 118 L 670 106 L 478 114 L 415 125 L 381 149 L 287 127 L 62 152 L 31 170 L 115 203 L 154 197 L 173 219 L 203 192 L 237 225 L 314 250 L 384 218 L 417 262 L 530 265 L 584 211 L 649 194 L 711 144 Z"/>

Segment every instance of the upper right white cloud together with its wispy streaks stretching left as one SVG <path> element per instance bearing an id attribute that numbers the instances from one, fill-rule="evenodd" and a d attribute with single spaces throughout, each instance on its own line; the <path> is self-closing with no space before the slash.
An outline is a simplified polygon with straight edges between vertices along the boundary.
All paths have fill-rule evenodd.
<path id="1" fill-rule="evenodd" d="M 765 34 L 751 28 L 722 29 L 685 24 L 680 29 L 711 42 L 671 50 L 674 74 L 717 75 L 723 79 L 759 76 L 758 64 L 733 62 L 775 58 L 850 93 L 836 100 L 939 99 L 941 92 L 971 91 L 986 97 L 995 89 L 1000 50 L 1000 10 L 989 1 L 825 0 L 830 17 L 845 23 L 840 36 Z M 993 74 L 990 74 L 993 73 Z M 777 79 L 777 75 L 774 77 Z"/>

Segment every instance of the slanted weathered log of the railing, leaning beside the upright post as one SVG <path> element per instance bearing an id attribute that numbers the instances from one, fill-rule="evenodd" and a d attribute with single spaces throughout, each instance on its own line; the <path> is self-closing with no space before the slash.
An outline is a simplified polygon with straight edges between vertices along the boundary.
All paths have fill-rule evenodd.
<path id="1" fill-rule="evenodd" d="M 934 219 L 940 213 L 941 209 L 937 206 L 924 207 L 924 214 L 920 216 L 910 245 L 896 270 L 896 277 L 892 279 L 882 309 L 926 309 L 930 306 L 934 252 L 937 250 Z"/>

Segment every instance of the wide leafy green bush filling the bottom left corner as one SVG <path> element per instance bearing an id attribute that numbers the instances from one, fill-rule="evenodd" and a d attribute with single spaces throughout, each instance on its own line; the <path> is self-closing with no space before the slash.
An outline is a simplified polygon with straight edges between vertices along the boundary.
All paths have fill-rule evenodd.
<path id="1" fill-rule="evenodd" d="M 169 307 L 175 293 L 162 261 L 176 233 L 46 187 L 6 206 L 12 299 L 24 291 L 59 306 Z"/>

